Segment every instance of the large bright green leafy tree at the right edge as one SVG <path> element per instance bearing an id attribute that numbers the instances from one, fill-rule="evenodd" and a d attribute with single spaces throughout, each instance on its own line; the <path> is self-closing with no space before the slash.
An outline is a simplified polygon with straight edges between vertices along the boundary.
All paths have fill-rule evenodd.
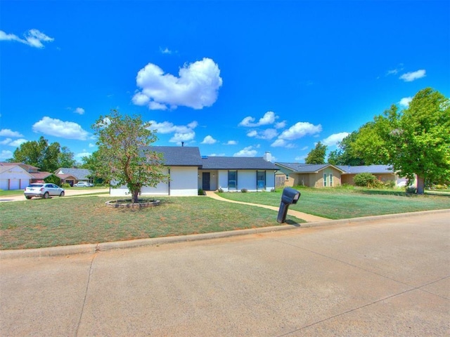
<path id="1" fill-rule="evenodd" d="M 356 152 L 367 161 L 392 164 L 400 176 L 413 180 L 423 194 L 426 183 L 450 181 L 450 100 L 425 88 L 409 107 L 395 105 L 359 130 Z"/>

